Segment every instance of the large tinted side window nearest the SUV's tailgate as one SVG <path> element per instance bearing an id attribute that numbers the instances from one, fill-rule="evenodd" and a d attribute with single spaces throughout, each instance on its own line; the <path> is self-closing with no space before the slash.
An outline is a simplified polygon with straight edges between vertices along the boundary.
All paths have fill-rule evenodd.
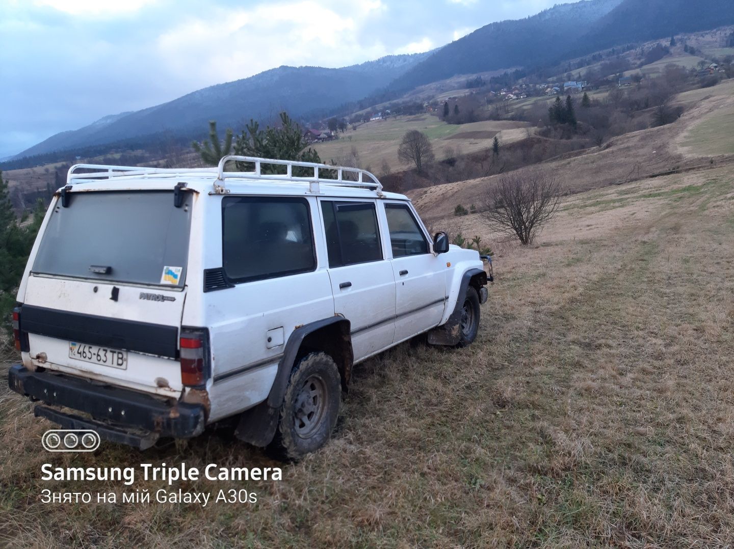
<path id="1" fill-rule="evenodd" d="M 315 270 L 308 201 L 260 196 L 222 199 L 222 266 L 234 282 Z"/>

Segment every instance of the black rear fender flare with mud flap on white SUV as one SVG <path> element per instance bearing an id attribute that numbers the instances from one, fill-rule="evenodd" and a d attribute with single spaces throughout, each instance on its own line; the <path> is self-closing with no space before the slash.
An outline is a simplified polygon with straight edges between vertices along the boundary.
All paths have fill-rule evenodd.
<path id="1" fill-rule="evenodd" d="M 342 336 L 349 338 L 348 341 L 343 342 L 344 344 L 348 344 L 349 347 L 346 353 L 346 362 L 349 364 L 344 364 L 344 372 L 340 372 L 343 388 L 346 389 L 353 359 L 352 340 L 349 336 L 351 323 L 349 320 L 346 320 L 344 317 L 334 316 L 299 326 L 288 337 L 286 348 L 283 351 L 283 358 L 278 363 L 275 379 L 273 380 L 268 397 L 260 404 L 250 408 L 250 410 L 245 410 L 241 414 L 239 424 L 235 430 L 235 436 L 237 438 L 254 446 L 267 446 L 272 442 L 275 436 L 275 430 L 277 429 L 278 416 L 280 416 L 280 405 L 283 404 L 283 397 L 285 397 L 286 390 L 288 389 L 288 381 L 291 379 L 291 372 L 293 371 L 297 358 L 299 358 L 299 352 L 304 340 L 316 331 L 337 324 L 338 326 L 335 326 L 335 328 L 341 331 Z"/>

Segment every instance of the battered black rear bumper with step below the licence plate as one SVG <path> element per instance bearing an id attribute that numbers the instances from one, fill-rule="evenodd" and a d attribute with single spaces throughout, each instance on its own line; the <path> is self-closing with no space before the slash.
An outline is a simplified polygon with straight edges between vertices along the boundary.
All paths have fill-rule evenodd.
<path id="1" fill-rule="evenodd" d="M 191 438 L 200 435 L 206 425 L 203 405 L 186 402 L 167 402 L 147 394 L 112 387 L 57 372 L 31 372 L 20 364 L 8 371 L 8 386 L 16 393 L 40 400 L 51 406 L 65 406 L 88 413 L 95 421 L 79 416 L 48 410 L 38 410 L 37 416 L 68 427 L 72 421 L 84 422 L 97 430 L 101 438 L 143 447 L 124 440 L 122 435 L 112 436 L 103 431 L 127 433 L 133 438 L 150 435 L 174 438 Z M 46 412 L 53 412 L 48 413 Z M 134 432 L 128 432 L 137 431 Z M 140 432 L 143 432 L 141 435 Z M 148 432 L 148 435 L 145 435 Z M 157 436 L 156 436 L 157 435 Z"/>

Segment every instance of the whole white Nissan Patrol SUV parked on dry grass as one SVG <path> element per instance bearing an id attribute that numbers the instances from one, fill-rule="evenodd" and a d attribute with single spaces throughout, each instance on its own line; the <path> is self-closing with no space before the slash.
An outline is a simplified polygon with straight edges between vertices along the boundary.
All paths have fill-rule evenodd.
<path id="1" fill-rule="evenodd" d="M 470 344 L 486 284 L 478 252 L 362 170 L 77 165 L 18 290 L 9 384 L 139 449 L 229 418 L 297 459 L 329 439 L 353 364 L 424 332 Z"/>

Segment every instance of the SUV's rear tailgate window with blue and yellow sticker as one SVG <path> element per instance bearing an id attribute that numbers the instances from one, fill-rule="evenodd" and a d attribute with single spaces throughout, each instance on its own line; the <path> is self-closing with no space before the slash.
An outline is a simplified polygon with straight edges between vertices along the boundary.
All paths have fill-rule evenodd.
<path id="1" fill-rule="evenodd" d="M 54 208 L 32 272 L 182 287 L 191 195 L 174 207 L 171 191 L 71 193 Z"/>

